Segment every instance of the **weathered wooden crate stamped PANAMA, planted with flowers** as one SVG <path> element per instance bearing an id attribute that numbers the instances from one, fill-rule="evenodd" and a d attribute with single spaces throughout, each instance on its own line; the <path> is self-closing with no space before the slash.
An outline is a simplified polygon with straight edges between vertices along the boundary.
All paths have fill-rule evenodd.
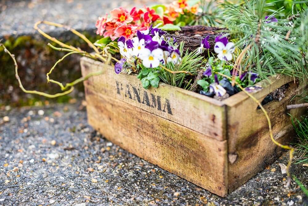
<path id="1" fill-rule="evenodd" d="M 83 57 L 83 76 L 103 70 L 84 82 L 88 121 L 111 142 L 219 196 L 226 196 L 281 154 L 270 140 L 266 118 L 257 104 L 240 92 L 224 101 L 160 83 L 144 89 L 134 75 Z M 258 83 L 262 99 L 289 83 L 286 97 L 265 105 L 274 138 L 293 137 L 291 118 L 305 108 L 286 110 L 307 84 L 293 78 Z"/>

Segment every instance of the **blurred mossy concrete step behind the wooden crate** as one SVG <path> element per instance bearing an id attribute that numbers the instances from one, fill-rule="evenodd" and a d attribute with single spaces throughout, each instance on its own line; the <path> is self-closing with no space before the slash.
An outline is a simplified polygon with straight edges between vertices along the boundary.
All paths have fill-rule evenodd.
<path id="1" fill-rule="evenodd" d="M 48 85 L 46 73 L 64 53 L 51 50 L 34 28 L 37 21 L 51 21 L 68 25 L 85 34 L 92 42 L 100 38 L 95 34 L 96 19 L 115 7 L 132 8 L 133 6 L 151 5 L 161 1 L 108 1 L 108 0 L 28 0 L 0 1 L 0 39 L 15 54 L 22 83 L 26 89 L 35 89 L 49 93 L 59 92 L 59 88 Z M 88 49 L 83 40 L 64 29 L 40 25 L 40 28 L 59 40 Z M 91 51 L 91 50 L 90 50 Z M 79 56 L 71 56 L 55 69 L 52 78 L 68 82 L 80 77 Z M 26 95 L 18 88 L 15 79 L 13 61 L 0 49 L 0 105 L 27 105 L 42 97 Z M 82 84 L 78 91 L 83 91 Z M 82 93 L 81 93 L 82 94 Z M 66 101 L 67 97 L 58 98 Z"/>

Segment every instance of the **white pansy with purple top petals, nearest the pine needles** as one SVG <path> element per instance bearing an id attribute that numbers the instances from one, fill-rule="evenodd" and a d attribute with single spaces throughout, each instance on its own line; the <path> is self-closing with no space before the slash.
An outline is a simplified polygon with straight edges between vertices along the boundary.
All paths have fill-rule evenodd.
<path id="1" fill-rule="evenodd" d="M 222 35 L 216 37 L 215 42 L 214 51 L 217 53 L 218 59 L 225 61 L 232 60 L 234 43 L 228 42 L 228 39 Z"/>

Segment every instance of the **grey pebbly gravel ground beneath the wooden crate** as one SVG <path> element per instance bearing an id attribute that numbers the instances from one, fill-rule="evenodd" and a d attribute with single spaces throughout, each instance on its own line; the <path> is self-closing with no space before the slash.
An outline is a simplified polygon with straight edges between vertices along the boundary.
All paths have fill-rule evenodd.
<path id="1" fill-rule="evenodd" d="M 113 145 L 83 105 L 0 110 L 0 205 L 308 204 L 294 181 L 284 187 L 287 157 L 221 198 Z M 291 172 L 307 187 L 307 167 Z"/>

